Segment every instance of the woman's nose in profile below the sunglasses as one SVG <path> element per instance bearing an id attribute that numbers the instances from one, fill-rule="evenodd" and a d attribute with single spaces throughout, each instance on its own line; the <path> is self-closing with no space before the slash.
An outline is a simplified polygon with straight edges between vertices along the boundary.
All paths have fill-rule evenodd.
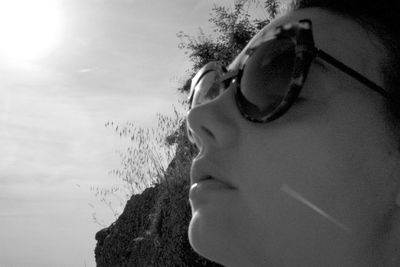
<path id="1" fill-rule="evenodd" d="M 239 135 L 237 116 L 233 90 L 226 90 L 215 100 L 188 112 L 186 123 L 190 141 L 200 153 L 209 148 L 233 145 Z"/>

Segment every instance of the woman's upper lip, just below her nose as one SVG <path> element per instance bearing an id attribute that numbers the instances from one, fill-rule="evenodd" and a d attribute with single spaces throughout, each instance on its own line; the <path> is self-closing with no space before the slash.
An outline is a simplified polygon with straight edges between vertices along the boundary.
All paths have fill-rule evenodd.
<path id="1" fill-rule="evenodd" d="M 215 167 L 215 164 L 205 158 L 195 159 L 190 170 L 191 184 L 193 185 L 208 179 L 215 179 L 232 189 L 236 189 L 235 186 L 225 178 L 226 173 L 225 175 L 222 175 L 220 170 L 221 168 Z"/>

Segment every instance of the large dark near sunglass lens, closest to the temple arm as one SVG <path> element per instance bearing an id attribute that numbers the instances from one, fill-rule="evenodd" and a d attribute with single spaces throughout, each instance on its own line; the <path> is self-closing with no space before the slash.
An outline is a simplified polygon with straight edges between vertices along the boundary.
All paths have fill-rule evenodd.
<path id="1" fill-rule="evenodd" d="M 295 47 L 290 39 L 274 39 L 258 47 L 246 61 L 240 91 L 250 116 L 272 112 L 285 96 L 292 78 Z"/>

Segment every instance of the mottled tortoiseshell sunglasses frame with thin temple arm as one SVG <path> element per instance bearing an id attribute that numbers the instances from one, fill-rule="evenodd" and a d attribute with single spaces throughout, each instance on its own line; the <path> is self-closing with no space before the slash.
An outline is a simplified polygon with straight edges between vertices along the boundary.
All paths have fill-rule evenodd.
<path id="1" fill-rule="evenodd" d="M 278 104 L 271 112 L 268 114 L 263 114 L 257 106 L 252 104 L 250 101 L 246 99 L 241 91 L 241 79 L 243 77 L 244 69 L 246 67 L 246 63 L 248 59 L 254 54 L 254 52 L 266 42 L 269 42 L 274 39 L 288 39 L 291 40 L 294 44 L 295 48 L 295 58 L 294 58 L 294 66 L 292 78 L 290 80 L 289 86 L 286 89 L 286 93 L 282 98 L 280 104 Z M 305 83 L 307 78 L 308 71 L 310 69 L 310 65 L 315 58 L 320 58 L 323 61 L 333 65 L 337 69 L 343 71 L 344 73 L 350 75 L 354 79 L 359 82 L 365 84 L 370 89 L 378 92 L 384 97 L 389 98 L 388 92 L 369 80 L 359 72 L 350 68 L 349 66 L 343 64 L 338 61 L 328 53 L 323 50 L 315 47 L 314 38 L 312 33 L 312 22 L 309 19 L 300 20 L 297 23 L 289 23 L 279 27 L 276 27 L 273 31 L 265 32 L 263 35 L 259 36 L 252 44 L 250 48 L 247 48 L 243 53 L 244 58 L 240 58 L 239 67 L 235 70 L 227 71 L 226 68 L 217 61 L 212 61 L 206 64 L 200 71 L 195 75 L 192 79 L 190 93 L 189 93 L 189 103 L 190 109 L 199 105 L 204 104 L 209 101 L 212 101 L 217 96 L 219 96 L 224 90 L 229 87 L 230 83 L 233 83 L 235 86 L 235 98 L 238 109 L 240 113 L 249 121 L 257 122 L 257 123 L 265 123 L 271 122 L 280 116 L 282 116 L 285 112 L 289 110 L 292 104 L 295 102 L 296 98 L 299 96 L 301 89 Z M 218 86 L 220 91 L 218 94 L 213 96 L 214 98 L 208 99 L 207 102 L 193 103 L 196 101 L 194 99 L 196 93 L 196 85 L 201 81 L 203 77 L 209 72 L 216 72 L 218 74 Z M 198 90 L 201 90 L 200 87 Z"/>

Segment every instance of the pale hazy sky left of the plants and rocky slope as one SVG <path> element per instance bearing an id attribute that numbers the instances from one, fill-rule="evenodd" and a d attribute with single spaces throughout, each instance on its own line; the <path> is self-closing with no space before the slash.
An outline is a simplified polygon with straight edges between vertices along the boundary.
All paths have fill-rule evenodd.
<path id="1" fill-rule="evenodd" d="M 90 188 L 124 146 L 105 123 L 180 108 L 176 34 L 211 33 L 214 3 L 233 1 L 0 1 L 0 266 L 95 266 L 92 213 L 114 218 Z"/>

